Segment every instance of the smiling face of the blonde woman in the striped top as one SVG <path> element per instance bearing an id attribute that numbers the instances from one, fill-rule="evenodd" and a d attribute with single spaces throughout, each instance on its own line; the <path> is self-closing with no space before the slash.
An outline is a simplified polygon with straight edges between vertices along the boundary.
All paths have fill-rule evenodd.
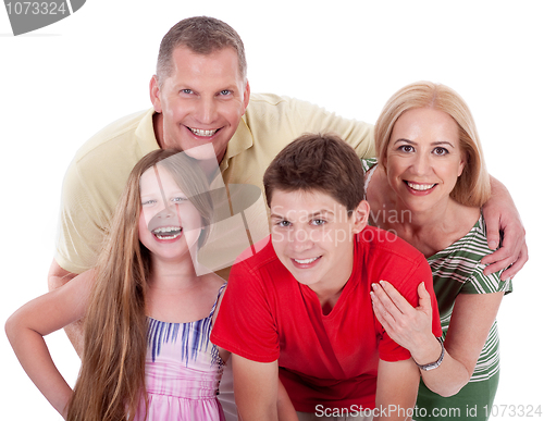
<path id="1" fill-rule="evenodd" d="M 385 165 L 408 209 L 426 211 L 449 200 L 465 166 L 456 121 L 430 108 L 406 111 L 393 127 Z"/>

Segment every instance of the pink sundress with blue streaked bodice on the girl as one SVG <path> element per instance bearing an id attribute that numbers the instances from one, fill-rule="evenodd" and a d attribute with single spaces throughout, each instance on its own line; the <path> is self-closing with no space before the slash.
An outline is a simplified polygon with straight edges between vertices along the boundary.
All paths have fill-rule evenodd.
<path id="1" fill-rule="evenodd" d="M 221 295 L 226 284 L 218 294 Z M 218 401 L 223 362 L 210 342 L 210 314 L 188 323 L 169 323 L 148 318 L 146 389 L 148 412 L 141 400 L 136 420 L 224 421 Z"/>

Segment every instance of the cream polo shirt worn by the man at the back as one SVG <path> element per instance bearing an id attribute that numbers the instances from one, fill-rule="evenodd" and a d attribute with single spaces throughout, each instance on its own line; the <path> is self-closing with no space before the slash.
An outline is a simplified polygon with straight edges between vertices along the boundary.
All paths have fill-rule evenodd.
<path id="1" fill-rule="evenodd" d="M 110 124 L 87 140 L 72 160 L 64 176 L 54 256 L 64 270 L 82 273 L 96 264 L 129 172 L 145 154 L 159 148 L 153 113 L 150 109 Z M 306 101 L 251 95 L 220 164 L 225 185 L 252 184 L 262 190 L 262 176 L 272 159 L 301 134 L 318 132 L 337 134 L 361 158 L 375 156 L 372 125 L 343 119 Z M 254 220 L 254 242 L 268 234 L 262 196 L 259 200 L 260 205 L 247 212 Z"/>

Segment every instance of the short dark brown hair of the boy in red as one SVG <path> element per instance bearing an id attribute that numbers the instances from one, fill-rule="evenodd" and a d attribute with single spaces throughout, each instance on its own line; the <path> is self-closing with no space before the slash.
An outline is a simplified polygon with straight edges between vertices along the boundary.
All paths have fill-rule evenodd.
<path id="1" fill-rule="evenodd" d="M 305 134 L 287 145 L 264 172 L 270 207 L 274 190 L 321 191 L 350 214 L 364 197 L 364 173 L 354 148 L 332 134 Z"/>

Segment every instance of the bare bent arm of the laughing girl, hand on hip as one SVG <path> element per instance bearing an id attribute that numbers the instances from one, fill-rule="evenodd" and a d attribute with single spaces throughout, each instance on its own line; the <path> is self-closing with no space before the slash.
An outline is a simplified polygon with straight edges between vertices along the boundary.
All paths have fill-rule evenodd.
<path id="1" fill-rule="evenodd" d="M 54 366 L 44 336 L 84 315 L 91 282 L 92 271 L 87 271 L 27 302 L 5 322 L 5 333 L 21 366 L 64 418 L 72 389 Z"/>

